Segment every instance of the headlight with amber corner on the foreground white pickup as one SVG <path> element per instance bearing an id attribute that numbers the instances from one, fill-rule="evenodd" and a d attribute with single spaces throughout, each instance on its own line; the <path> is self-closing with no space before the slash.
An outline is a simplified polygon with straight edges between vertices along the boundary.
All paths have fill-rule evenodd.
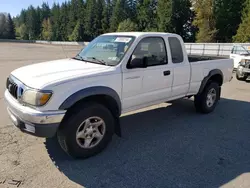
<path id="1" fill-rule="evenodd" d="M 52 96 L 51 91 L 26 90 L 22 95 L 22 101 L 32 106 L 45 105 Z"/>

